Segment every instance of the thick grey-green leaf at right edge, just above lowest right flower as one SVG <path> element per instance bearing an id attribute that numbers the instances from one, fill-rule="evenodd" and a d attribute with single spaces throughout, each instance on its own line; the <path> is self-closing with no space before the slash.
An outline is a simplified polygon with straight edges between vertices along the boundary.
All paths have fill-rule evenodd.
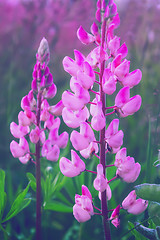
<path id="1" fill-rule="evenodd" d="M 154 202 L 160 202 L 160 184 L 144 183 L 135 186 L 138 197 Z"/>

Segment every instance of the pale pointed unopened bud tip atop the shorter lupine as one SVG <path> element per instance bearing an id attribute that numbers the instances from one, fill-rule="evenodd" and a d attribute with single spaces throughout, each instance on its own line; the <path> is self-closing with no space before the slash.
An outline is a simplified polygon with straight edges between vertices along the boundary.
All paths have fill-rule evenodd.
<path id="1" fill-rule="evenodd" d="M 45 38 L 42 38 L 40 42 L 38 52 L 37 52 L 37 60 L 41 64 L 45 63 L 45 65 L 48 65 L 49 63 L 49 60 L 50 60 L 49 45 L 48 45 L 48 41 Z"/>

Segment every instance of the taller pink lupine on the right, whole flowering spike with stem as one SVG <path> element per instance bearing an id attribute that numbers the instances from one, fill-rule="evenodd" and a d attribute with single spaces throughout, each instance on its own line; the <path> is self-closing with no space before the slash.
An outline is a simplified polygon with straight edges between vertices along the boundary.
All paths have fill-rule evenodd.
<path id="1" fill-rule="evenodd" d="M 127 183 L 134 182 L 141 170 L 140 164 L 135 163 L 133 157 L 127 156 L 126 148 L 121 148 L 124 134 L 119 130 L 119 119 L 114 118 L 106 129 L 106 118 L 109 115 L 127 117 L 140 109 L 141 97 L 130 97 L 130 89 L 140 82 L 142 73 L 139 69 L 129 72 L 127 46 L 125 43 L 120 45 L 120 38 L 114 35 L 120 19 L 113 0 L 108 3 L 105 0 L 97 1 L 96 20 L 97 23 L 94 22 L 91 26 L 91 33 L 86 32 L 82 26 L 77 31 L 83 44 L 94 43 L 95 48 L 86 57 L 74 50 L 75 60 L 70 57 L 63 60 L 65 71 L 71 75 L 72 92 L 67 90 L 62 94 L 62 117 L 67 126 L 80 127 L 80 132 L 72 131 L 70 140 L 76 151 L 71 150 L 71 161 L 65 157 L 60 159 L 60 170 L 68 177 L 75 177 L 84 171 L 92 172 L 86 169 L 77 151 L 85 159 L 92 155 L 98 158 L 97 171 L 93 172 L 96 174 L 93 185 L 99 192 L 101 209 L 95 209 L 99 210 L 96 214 L 102 215 L 105 239 L 109 240 L 110 221 L 115 227 L 119 226 L 120 209 L 140 214 L 148 205 L 147 201 L 136 199 L 135 191 L 115 209 L 108 209 L 107 204 L 112 196 L 109 183 L 116 178 Z M 94 89 L 97 84 L 99 91 Z M 106 95 L 115 94 L 117 84 L 120 84 L 121 89 L 116 94 L 115 103 L 113 106 L 106 106 Z M 95 94 L 93 99 L 90 93 Z M 96 132 L 99 132 L 99 139 L 96 139 Z M 113 165 L 108 165 L 108 153 L 116 154 Z M 110 180 L 107 179 L 109 167 L 116 167 L 115 177 Z M 79 222 L 88 221 L 95 214 L 93 208 L 92 195 L 83 185 L 82 195 L 75 196 L 73 215 Z"/>

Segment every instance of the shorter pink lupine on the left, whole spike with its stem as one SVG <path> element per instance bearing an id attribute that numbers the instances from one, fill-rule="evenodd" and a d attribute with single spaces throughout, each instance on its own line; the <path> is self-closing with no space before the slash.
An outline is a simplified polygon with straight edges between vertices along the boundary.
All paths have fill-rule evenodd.
<path id="1" fill-rule="evenodd" d="M 26 164 L 33 161 L 36 166 L 36 239 L 41 237 L 41 158 L 49 161 L 57 161 L 60 148 L 65 148 L 68 142 L 68 133 L 58 134 L 60 118 L 54 117 L 61 113 L 62 104 L 50 106 L 47 99 L 52 99 L 57 92 L 53 83 L 53 77 L 49 67 L 49 46 L 45 38 L 42 39 L 33 70 L 32 89 L 22 98 L 21 108 L 18 114 L 18 122 L 10 124 L 10 130 L 19 144 L 12 141 L 10 150 L 15 158 Z M 54 113 L 53 113 L 54 112 Z M 47 134 L 46 134 L 47 133 Z M 46 139 L 46 136 L 47 139 Z M 29 150 L 28 141 L 35 145 L 35 152 Z"/>

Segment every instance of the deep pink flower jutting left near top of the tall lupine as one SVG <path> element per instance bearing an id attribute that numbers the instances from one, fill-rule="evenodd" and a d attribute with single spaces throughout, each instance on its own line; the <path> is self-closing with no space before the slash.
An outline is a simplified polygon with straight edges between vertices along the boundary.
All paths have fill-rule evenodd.
<path id="1" fill-rule="evenodd" d="M 95 37 L 87 33 L 82 26 L 77 30 L 77 37 L 83 44 L 89 44 L 95 41 Z"/>

